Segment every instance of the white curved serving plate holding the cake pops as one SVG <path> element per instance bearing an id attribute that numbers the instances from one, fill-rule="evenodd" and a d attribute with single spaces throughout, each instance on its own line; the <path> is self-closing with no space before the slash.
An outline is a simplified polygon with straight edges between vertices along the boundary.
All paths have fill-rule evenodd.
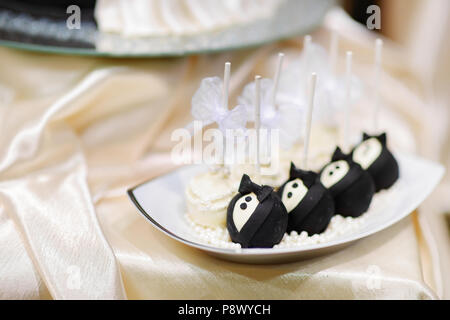
<path id="1" fill-rule="evenodd" d="M 445 169 L 438 163 L 417 156 L 397 154 L 396 158 L 400 166 L 399 180 L 391 189 L 374 196 L 369 211 L 365 213 L 365 222 L 360 228 L 326 243 L 294 248 L 236 251 L 202 243 L 186 221 L 184 190 L 193 176 L 205 170 L 204 166 L 182 167 L 128 190 L 128 195 L 139 212 L 153 226 L 190 247 L 235 262 L 282 263 L 337 251 L 388 228 L 413 212 L 437 186 Z"/>

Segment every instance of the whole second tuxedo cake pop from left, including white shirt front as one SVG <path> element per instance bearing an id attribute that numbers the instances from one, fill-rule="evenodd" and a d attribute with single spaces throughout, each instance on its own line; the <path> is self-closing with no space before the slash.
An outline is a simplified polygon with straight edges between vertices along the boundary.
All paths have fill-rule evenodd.
<path id="1" fill-rule="evenodd" d="M 323 232 L 334 215 L 334 200 L 318 174 L 297 169 L 291 162 L 289 180 L 278 194 L 289 215 L 287 231 L 306 231 L 309 235 Z"/>

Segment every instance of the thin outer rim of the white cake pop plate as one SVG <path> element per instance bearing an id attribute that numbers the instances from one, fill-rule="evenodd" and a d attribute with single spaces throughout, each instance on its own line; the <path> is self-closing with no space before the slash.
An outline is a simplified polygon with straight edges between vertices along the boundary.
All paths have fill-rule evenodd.
<path id="1" fill-rule="evenodd" d="M 164 226 L 162 226 L 156 219 L 154 219 L 151 215 L 151 213 L 146 212 L 144 208 L 142 208 L 139 201 L 136 199 L 134 191 L 148 183 L 157 183 L 158 180 L 164 179 L 169 175 L 175 175 L 179 173 L 180 170 L 188 170 L 189 168 L 194 167 L 195 165 L 187 165 L 179 167 L 167 174 L 152 178 L 150 180 L 144 181 L 143 183 L 140 183 L 130 189 L 127 190 L 128 197 L 133 202 L 133 204 L 137 207 L 139 213 L 144 216 L 156 229 L 159 231 L 165 233 L 169 237 L 182 242 L 188 246 L 216 254 L 218 256 L 226 258 L 226 256 L 277 256 L 277 255 L 285 255 L 285 254 L 295 254 L 295 253 L 301 253 L 301 252 L 309 252 L 309 251 L 315 251 L 320 249 L 326 249 L 326 248 L 332 248 L 332 247 L 339 247 L 347 244 L 351 244 L 354 241 L 366 238 L 368 236 L 371 236 L 379 231 L 382 231 L 395 223 L 399 222 L 403 218 L 409 216 L 430 194 L 431 192 L 436 188 L 439 181 L 442 179 L 445 168 L 442 164 L 424 159 L 422 157 L 401 153 L 401 154 L 395 154 L 397 158 L 413 158 L 422 162 L 426 162 L 430 166 L 434 166 L 435 170 L 435 176 L 433 177 L 433 183 L 430 183 L 430 187 L 428 190 L 425 190 L 423 195 L 423 199 L 420 199 L 419 201 L 412 201 L 407 209 L 403 210 L 402 214 L 399 214 L 395 216 L 394 218 L 390 218 L 386 220 L 384 223 L 381 223 L 375 227 L 372 227 L 364 232 L 355 232 L 351 233 L 348 236 L 340 237 L 338 239 L 330 240 L 329 242 L 323 242 L 323 243 L 317 243 L 317 244 L 311 244 L 311 245 L 302 245 L 297 247 L 289 247 L 289 248 L 242 248 L 242 249 L 229 249 L 229 248 L 220 248 L 220 247 L 214 247 L 208 244 L 204 244 L 201 242 L 194 242 L 189 239 L 185 239 L 182 236 L 168 230 Z M 197 165 L 198 167 L 198 165 Z M 200 241 L 200 240 L 199 240 Z"/>

